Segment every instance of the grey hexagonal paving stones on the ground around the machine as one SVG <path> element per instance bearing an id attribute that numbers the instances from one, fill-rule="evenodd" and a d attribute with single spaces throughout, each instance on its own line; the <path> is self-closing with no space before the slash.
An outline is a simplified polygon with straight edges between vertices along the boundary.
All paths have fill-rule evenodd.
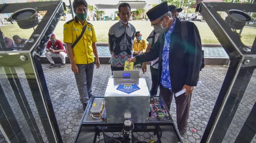
<path id="1" fill-rule="evenodd" d="M 49 64 L 42 64 L 60 133 L 64 143 L 71 143 L 84 113 L 82 104 L 79 100 L 74 74 L 71 71 L 70 64 L 67 64 L 64 68 L 54 67 L 50 69 L 48 66 Z M 200 80 L 202 80 L 203 83 L 196 87 L 193 92 L 187 136 L 183 138 L 184 143 L 200 142 L 227 69 L 228 68 L 225 66 L 207 65 L 200 73 Z M 147 66 L 145 75 L 141 72 L 140 67 L 136 67 L 135 70 L 140 70 L 140 76 L 146 79 L 147 86 L 150 89 L 151 74 L 149 65 Z M 109 64 L 101 64 L 99 69 L 94 67 L 92 90 L 95 96 L 104 96 L 110 75 L 111 70 Z M 223 142 L 234 142 L 235 136 L 239 133 L 243 125 L 242 123 L 246 120 L 246 117 L 256 100 L 256 96 L 254 96 L 256 92 L 255 84 L 256 74 L 254 73 L 249 84 L 250 89 L 246 91 L 242 104 L 238 108 L 236 116 L 225 137 L 225 141 Z M 174 122 L 176 122 L 176 105 L 174 100 L 171 104 L 170 113 Z M 196 132 L 193 132 L 193 129 L 196 129 Z M 3 135 L 0 134 L 0 143 L 5 142 Z M 256 143 L 255 138 L 253 143 Z"/>

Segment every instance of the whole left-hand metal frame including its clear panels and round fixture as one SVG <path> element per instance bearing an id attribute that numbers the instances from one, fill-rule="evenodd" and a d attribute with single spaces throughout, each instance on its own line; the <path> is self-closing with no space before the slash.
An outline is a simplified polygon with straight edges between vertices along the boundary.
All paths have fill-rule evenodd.
<path id="1" fill-rule="evenodd" d="M 63 13 L 62 1 L 2 0 L 0 9 L 1 132 L 8 142 L 61 143 L 37 57 Z"/>

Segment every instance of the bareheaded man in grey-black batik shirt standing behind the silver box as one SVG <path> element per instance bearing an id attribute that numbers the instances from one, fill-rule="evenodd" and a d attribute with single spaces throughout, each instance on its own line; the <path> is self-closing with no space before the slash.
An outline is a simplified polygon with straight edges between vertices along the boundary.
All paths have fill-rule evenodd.
<path id="1" fill-rule="evenodd" d="M 128 3 L 124 2 L 118 6 L 117 15 L 120 20 L 109 29 L 111 71 L 122 71 L 125 61 L 132 57 L 133 39 L 136 33 L 135 27 L 129 23 L 131 7 Z"/>

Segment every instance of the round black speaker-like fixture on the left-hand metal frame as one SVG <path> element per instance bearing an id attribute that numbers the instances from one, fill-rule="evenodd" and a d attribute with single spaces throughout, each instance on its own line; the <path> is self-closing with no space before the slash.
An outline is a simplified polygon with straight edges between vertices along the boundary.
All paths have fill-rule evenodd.
<path id="1" fill-rule="evenodd" d="M 16 11 L 11 15 L 11 19 L 17 21 L 21 29 L 30 29 L 38 24 L 36 10 L 31 8 Z"/>

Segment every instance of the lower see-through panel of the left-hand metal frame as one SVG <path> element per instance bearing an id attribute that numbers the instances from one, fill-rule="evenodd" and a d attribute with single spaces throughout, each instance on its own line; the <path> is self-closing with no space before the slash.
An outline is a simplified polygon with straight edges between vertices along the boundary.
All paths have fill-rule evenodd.
<path id="1" fill-rule="evenodd" d="M 9 71 L 13 74 L 6 75 Z M 34 143 L 42 140 L 48 142 L 24 69 L 22 67 L 0 67 L 0 85 L 4 91 L 2 96 L 6 97 L 11 107 L 8 110 L 1 104 L 4 113 L 12 112 L 15 116 L 13 119 L 8 119 L 9 122 L 15 122 L 15 120 L 18 122 L 26 142 Z M 7 129 L 4 128 L 4 130 Z"/>

